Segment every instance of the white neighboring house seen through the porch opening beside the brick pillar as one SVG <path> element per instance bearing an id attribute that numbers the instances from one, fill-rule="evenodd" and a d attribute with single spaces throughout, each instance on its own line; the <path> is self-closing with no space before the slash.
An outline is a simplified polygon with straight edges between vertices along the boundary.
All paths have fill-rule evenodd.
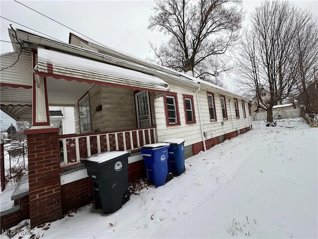
<path id="1" fill-rule="evenodd" d="M 50 106 L 50 125 L 60 128 L 60 134 L 75 133 L 74 107 Z"/>

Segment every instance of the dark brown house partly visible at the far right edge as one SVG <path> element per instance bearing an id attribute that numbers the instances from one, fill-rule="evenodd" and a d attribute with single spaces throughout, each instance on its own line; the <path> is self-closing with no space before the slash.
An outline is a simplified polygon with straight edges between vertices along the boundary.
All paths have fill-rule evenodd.
<path id="1" fill-rule="evenodd" d="M 311 83 L 306 90 L 301 92 L 297 98 L 298 103 L 303 113 L 318 114 L 318 81 Z M 306 107 L 308 109 L 306 109 Z"/>

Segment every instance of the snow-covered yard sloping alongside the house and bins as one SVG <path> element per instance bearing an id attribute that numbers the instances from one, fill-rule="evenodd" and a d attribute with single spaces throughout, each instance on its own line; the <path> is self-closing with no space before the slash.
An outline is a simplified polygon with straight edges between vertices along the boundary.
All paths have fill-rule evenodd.
<path id="1" fill-rule="evenodd" d="M 113 214 L 90 204 L 31 232 L 54 239 L 318 238 L 318 129 L 301 120 L 264 124 L 188 158 L 181 176 L 132 195 Z"/>

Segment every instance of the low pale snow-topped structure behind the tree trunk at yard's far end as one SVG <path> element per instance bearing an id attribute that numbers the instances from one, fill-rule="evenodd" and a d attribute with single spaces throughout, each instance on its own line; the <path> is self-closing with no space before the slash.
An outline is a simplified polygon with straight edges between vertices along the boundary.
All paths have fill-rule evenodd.
<path id="1" fill-rule="evenodd" d="M 300 111 L 293 103 L 273 106 L 273 119 L 293 119 L 297 117 L 300 117 Z M 267 111 L 258 109 L 258 111 L 252 113 L 252 119 L 254 121 L 267 120 Z"/>

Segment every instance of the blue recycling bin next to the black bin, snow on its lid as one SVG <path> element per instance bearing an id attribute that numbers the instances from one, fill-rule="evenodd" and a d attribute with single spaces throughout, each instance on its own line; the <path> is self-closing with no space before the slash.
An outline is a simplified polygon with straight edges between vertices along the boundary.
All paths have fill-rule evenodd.
<path id="1" fill-rule="evenodd" d="M 169 143 L 152 143 L 141 147 L 147 181 L 159 187 L 170 180 L 168 171 Z"/>

